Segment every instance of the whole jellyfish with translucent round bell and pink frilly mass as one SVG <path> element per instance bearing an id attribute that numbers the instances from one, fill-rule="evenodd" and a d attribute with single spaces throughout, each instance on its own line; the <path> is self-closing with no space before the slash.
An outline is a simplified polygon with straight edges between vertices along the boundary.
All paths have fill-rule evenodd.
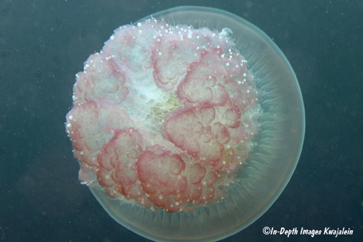
<path id="1" fill-rule="evenodd" d="M 84 63 L 66 132 L 104 210 L 154 241 L 216 241 L 276 201 L 299 160 L 304 104 L 256 26 L 178 7 L 116 29 Z"/>

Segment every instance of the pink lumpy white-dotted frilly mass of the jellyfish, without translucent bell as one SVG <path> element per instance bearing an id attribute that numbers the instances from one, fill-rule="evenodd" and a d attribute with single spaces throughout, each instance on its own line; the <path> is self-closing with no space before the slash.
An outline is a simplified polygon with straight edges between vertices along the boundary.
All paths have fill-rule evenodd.
<path id="1" fill-rule="evenodd" d="M 167 212 L 228 196 L 261 115 L 227 35 L 153 19 L 115 30 L 73 93 L 66 131 L 82 183 Z"/>

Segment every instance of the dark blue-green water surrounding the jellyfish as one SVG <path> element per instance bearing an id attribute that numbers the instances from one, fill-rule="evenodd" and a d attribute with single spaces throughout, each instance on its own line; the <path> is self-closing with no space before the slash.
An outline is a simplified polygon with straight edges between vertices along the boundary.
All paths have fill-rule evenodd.
<path id="1" fill-rule="evenodd" d="M 196 4 L 158 2 L 0 1 L 0 241 L 147 241 L 115 223 L 80 185 L 64 117 L 75 73 L 113 29 Z M 363 3 L 267 2 L 198 1 L 272 37 L 295 69 L 306 108 L 290 183 L 266 214 L 225 241 L 362 241 Z M 268 236 L 266 226 L 345 227 L 353 235 Z"/>

